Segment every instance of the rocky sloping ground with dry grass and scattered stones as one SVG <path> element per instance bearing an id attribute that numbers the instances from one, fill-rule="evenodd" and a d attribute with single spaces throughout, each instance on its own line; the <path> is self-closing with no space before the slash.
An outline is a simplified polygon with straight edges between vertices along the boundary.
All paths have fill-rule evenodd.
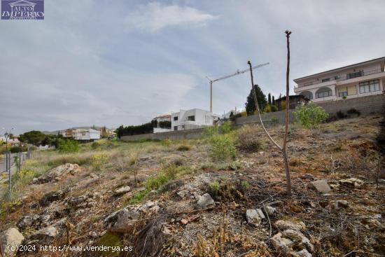
<path id="1" fill-rule="evenodd" d="M 239 150 L 235 160 L 211 158 L 207 137 L 100 146 L 107 160 L 94 146 L 84 151 L 89 163 L 87 153 L 73 163 L 50 160 L 48 172 L 3 204 L 0 241 L 133 247 L 18 256 L 384 256 L 380 120 L 293 126 L 290 198 L 281 155 L 260 128 L 253 130 L 259 150 Z M 269 130 L 282 138 L 281 127 Z M 120 144 L 135 148 L 116 151 Z"/>

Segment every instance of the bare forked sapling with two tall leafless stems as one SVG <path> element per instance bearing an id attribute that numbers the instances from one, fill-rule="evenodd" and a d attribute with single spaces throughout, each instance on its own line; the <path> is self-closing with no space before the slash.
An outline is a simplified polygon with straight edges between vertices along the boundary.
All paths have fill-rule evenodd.
<path id="1" fill-rule="evenodd" d="M 269 137 L 269 140 L 272 141 L 272 144 L 276 146 L 276 148 L 279 149 L 282 153 L 282 158 L 283 158 L 283 165 L 285 166 L 285 171 L 286 171 L 286 194 L 290 197 L 291 196 L 291 181 L 290 181 L 290 169 L 288 165 L 288 156 L 286 153 L 286 142 L 288 139 L 288 113 L 289 113 L 289 106 L 290 106 L 290 100 L 289 100 L 289 74 L 290 74 L 290 34 L 291 32 L 286 30 L 286 46 L 288 49 L 288 57 L 287 57 L 287 67 L 286 67 L 286 113 L 285 113 L 285 135 L 283 137 L 283 145 L 279 146 L 276 141 L 270 136 L 269 132 L 267 132 L 265 125 L 262 122 L 262 117 L 260 116 L 260 109 L 258 106 L 258 99 L 257 95 L 255 93 L 255 86 L 254 86 L 254 80 L 253 80 L 253 69 L 251 66 L 251 62 L 248 61 L 248 65 L 250 67 L 250 75 L 251 75 L 251 88 L 253 90 L 253 97 L 254 97 L 254 103 L 255 103 L 255 109 L 258 112 L 259 120 L 260 120 L 260 125 L 262 126 L 263 130 L 267 134 L 267 137 Z"/>

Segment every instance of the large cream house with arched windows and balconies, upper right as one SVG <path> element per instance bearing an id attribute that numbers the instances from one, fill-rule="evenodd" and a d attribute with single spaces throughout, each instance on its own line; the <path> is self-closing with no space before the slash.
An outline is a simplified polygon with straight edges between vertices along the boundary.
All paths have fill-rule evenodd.
<path id="1" fill-rule="evenodd" d="M 384 93 L 385 57 L 296 78 L 295 95 L 311 102 L 336 101 Z"/>

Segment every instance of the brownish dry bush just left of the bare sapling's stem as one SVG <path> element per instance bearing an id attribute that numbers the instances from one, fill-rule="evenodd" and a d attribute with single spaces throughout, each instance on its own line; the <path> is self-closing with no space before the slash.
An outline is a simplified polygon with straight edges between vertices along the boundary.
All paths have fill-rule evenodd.
<path id="1" fill-rule="evenodd" d="M 262 148 L 258 127 L 255 125 L 244 125 L 237 131 L 237 147 L 241 151 L 255 152 Z"/>

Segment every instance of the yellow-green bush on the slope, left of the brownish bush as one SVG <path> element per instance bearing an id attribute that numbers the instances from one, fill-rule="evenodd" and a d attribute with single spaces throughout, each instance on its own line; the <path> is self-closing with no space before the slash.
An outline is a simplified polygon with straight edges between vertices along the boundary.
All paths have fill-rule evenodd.
<path id="1" fill-rule="evenodd" d="M 227 160 L 237 155 L 234 139 L 230 135 L 215 135 L 211 138 L 211 157 Z"/>

